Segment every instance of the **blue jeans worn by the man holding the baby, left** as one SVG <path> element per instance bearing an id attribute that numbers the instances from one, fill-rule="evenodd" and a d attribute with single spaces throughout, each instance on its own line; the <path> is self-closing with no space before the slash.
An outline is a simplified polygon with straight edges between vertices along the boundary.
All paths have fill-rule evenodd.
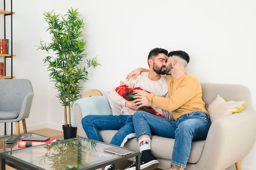
<path id="1" fill-rule="evenodd" d="M 98 130 L 118 130 L 110 144 L 124 146 L 135 136 L 132 115 L 87 115 L 82 119 L 83 130 L 89 139 L 102 141 Z"/>

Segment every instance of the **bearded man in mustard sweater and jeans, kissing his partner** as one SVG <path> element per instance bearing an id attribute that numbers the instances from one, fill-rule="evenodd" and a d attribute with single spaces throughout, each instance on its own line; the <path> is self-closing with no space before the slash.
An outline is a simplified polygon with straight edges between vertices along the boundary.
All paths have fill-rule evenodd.
<path id="1" fill-rule="evenodd" d="M 135 90 L 136 104 L 162 108 L 172 111 L 174 121 L 158 117 L 144 111 L 137 111 L 133 115 L 133 125 L 141 151 L 140 166 L 151 161 L 146 152 L 150 150 L 151 134 L 175 139 L 171 170 L 184 170 L 191 152 L 193 140 L 206 139 L 211 125 L 209 113 L 202 100 L 202 89 L 197 77 L 186 73 L 189 55 L 184 51 L 171 51 L 166 60 L 166 75 L 168 83 L 168 98 L 159 97 L 153 93 Z M 128 74 L 140 74 L 147 69 L 138 68 Z M 132 163 L 126 170 L 135 170 L 136 163 Z M 156 167 L 151 167 L 151 169 Z M 143 169 L 143 168 L 142 168 Z M 150 170 L 150 167 L 144 170 Z"/>

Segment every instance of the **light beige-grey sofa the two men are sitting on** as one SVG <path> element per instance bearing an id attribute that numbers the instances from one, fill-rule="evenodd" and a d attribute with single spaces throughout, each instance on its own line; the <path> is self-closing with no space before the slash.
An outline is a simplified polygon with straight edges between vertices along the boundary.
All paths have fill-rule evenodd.
<path id="1" fill-rule="evenodd" d="M 254 145 L 256 139 L 256 111 L 251 108 L 250 91 L 243 85 L 210 83 L 201 83 L 201 85 L 202 98 L 206 103 L 206 108 L 208 108 L 217 95 L 222 96 L 227 101 L 247 102 L 245 108 L 240 113 L 228 115 L 214 121 L 211 124 L 206 140 L 193 141 L 191 155 L 185 168 L 186 170 L 225 170 L 245 157 Z M 89 101 L 91 99 L 88 97 L 86 100 Z M 85 116 L 83 115 L 84 109 L 95 107 L 92 104 L 87 106 L 88 102 L 86 100 L 76 104 L 74 109 L 75 122 L 73 125 L 76 124 L 78 135 L 81 137 L 86 137 L 81 124 L 81 119 Z M 95 111 L 92 114 L 108 113 L 110 106 L 108 104 L 105 105 L 106 108 L 100 107 L 101 111 Z M 81 108 L 83 108 L 83 111 Z M 102 109 L 106 109 L 106 113 Z M 115 132 L 116 130 L 103 130 L 100 131 L 100 134 L 103 141 L 109 143 Z M 174 139 L 153 136 L 151 149 L 159 161 L 157 168 L 162 170 L 170 169 L 173 144 Z M 125 147 L 139 150 L 135 138 L 128 141 Z"/>

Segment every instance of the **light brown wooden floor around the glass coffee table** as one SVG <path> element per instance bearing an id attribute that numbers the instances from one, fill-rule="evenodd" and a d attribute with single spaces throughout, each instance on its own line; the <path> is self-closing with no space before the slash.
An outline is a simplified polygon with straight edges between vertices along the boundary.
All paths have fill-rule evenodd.
<path id="1" fill-rule="evenodd" d="M 33 132 L 33 133 L 37 133 L 40 135 L 44 135 L 44 136 L 48 136 L 48 137 L 56 137 L 59 140 L 63 140 L 63 131 L 59 131 L 59 130 L 54 130 L 54 129 L 50 129 L 50 128 L 45 128 L 45 129 L 39 129 L 39 130 L 32 130 L 32 131 L 27 131 L 29 132 Z M 13 134 L 15 135 L 15 134 Z M 7 135 L 10 136 L 10 135 Z M 0 136 L 0 137 L 4 137 L 4 136 Z M 118 163 L 117 167 L 120 170 L 124 170 L 125 168 L 127 168 L 128 166 L 130 166 L 132 162 L 131 161 L 122 161 L 120 163 Z M 14 168 L 11 168 L 10 166 L 6 166 L 6 170 L 16 170 Z"/>

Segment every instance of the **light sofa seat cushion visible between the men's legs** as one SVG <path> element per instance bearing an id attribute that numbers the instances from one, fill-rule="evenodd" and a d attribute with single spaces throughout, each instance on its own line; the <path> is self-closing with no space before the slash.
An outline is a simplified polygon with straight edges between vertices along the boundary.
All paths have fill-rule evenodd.
<path id="1" fill-rule="evenodd" d="M 109 143 L 117 130 L 100 130 L 103 142 Z M 188 163 L 197 163 L 202 155 L 205 140 L 193 141 Z M 174 139 L 152 135 L 151 151 L 157 158 L 171 159 L 173 153 Z M 164 147 L 163 147 L 164 146 Z M 139 150 L 136 138 L 132 138 L 124 146 L 132 150 Z"/>

